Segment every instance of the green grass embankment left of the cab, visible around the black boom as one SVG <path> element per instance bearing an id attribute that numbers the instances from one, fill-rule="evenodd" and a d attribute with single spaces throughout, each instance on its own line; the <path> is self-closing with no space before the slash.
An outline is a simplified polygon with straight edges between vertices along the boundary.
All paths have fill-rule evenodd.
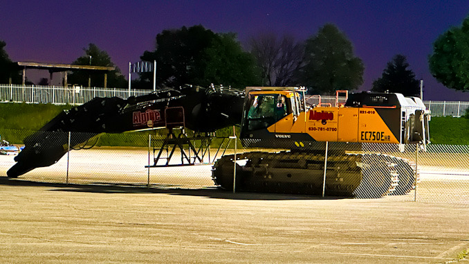
<path id="1" fill-rule="evenodd" d="M 26 103 L 0 103 L 0 136 L 13 144 L 22 144 L 25 137 L 33 134 L 46 125 L 52 118 L 64 111 L 71 109 L 72 105 L 52 104 L 26 104 Z M 96 146 L 148 146 L 149 134 L 157 139 L 163 139 L 167 130 L 147 130 L 139 132 L 125 132 L 122 134 L 100 134 Z M 187 131 L 192 135 L 190 130 Z M 232 128 L 217 131 L 218 136 L 232 134 Z M 91 139 L 94 143 L 95 140 Z M 212 146 L 218 146 L 219 141 L 214 140 Z"/>

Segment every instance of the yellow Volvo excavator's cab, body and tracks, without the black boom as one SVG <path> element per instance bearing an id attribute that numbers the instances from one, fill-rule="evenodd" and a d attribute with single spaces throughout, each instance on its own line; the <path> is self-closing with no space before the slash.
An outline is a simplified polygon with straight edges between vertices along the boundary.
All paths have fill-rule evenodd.
<path id="1" fill-rule="evenodd" d="M 246 88 L 243 146 L 286 150 L 225 155 L 213 166 L 215 184 L 228 190 L 235 185 L 237 191 L 359 198 L 408 193 L 418 178 L 414 164 L 362 146 L 425 146 L 430 112 L 420 98 L 345 93 L 344 104 L 307 105 L 304 90 L 296 87 Z"/>

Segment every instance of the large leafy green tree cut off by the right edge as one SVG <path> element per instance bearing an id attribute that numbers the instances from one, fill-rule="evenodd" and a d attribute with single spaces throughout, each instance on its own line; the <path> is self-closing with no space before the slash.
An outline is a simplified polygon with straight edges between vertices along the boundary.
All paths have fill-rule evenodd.
<path id="1" fill-rule="evenodd" d="M 460 28 L 452 27 L 436 39 L 428 64 L 445 87 L 469 91 L 469 16 Z"/>

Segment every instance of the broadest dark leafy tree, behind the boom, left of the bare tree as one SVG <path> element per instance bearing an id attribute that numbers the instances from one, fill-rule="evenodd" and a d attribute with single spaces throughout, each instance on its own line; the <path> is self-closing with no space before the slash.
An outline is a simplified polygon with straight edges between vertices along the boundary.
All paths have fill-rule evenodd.
<path id="1" fill-rule="evenodd" d="M 158 87 L 257 84 L 255 62 L 236 35 L 216 34 L 201 25 L 163 30 L 156 36 L 155 51 L 145 51 L 140 58 L 156 60 Z M 140 74 L 143 82 L 152 79 L 150 73 Z"/>

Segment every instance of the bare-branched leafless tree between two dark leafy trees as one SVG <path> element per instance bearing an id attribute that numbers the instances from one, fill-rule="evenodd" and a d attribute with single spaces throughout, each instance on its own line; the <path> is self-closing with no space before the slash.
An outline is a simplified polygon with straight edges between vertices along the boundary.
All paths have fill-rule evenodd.
<path id="1" fill-rule="evenodd" d="M 263 85 L 297 85 L 297 73 L 303 62 L 304 44 L 296 42 L 291 35 L 277 37 L 265 33 L 251 37 L 248 46 L 261 69 Z"/>

